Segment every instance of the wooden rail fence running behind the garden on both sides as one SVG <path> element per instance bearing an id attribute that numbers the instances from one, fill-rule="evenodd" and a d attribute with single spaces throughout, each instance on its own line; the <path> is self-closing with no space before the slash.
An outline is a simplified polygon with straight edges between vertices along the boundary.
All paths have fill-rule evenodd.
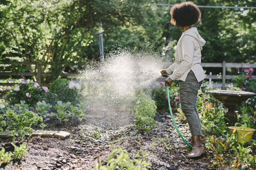
<path id="1" fill-rule="evenodd" d="M 22 72 L 22 71 L 17 71 L 17 72 L 7 72 L 7 71 L 0 71 L 0 80 L 1 76 L 35 76 L 36 80 L 39 84 L 42 84 L 41 82 L 41 77 L 43 76 L 51 76 L 52 73 L 43 73 L 41 70 L 41 66 L 43 65 L 56 65 L 56 64 L 63 64 L 63 63 L 56 63 L 56 62 L 0 62 L 0 65 L 34 65 L 34 70 L 36 72 L 30 73 L 30 72 Z M 76 65 L 83 65 L 85 63 L 78 63 Z M 74 65 L 74 63 L 70 63 L 70 65 Z M 209 73 L 206 75 L 206 79 L 211 82 L 211 80 L 222 80 L 222 88 L 225 88 L 226 85 L 226 80 L 232 80 L 234 77 L 237 75 L 226 75 L 226 68 L 231 67 L 231 68 L 256 68 L 256 64 L 248 64 L 248 63 L 232 63 L 232 62 L 222 62 L 222 63 L 212 63 L 212 62 L 203 62 L 202 66 L 204 69 L 206 68 L 222 68 L 222 75 L 211 75 Z M 256 72 L 256 71 L 255 71 Z M 256 76 L 252 77 L 253 80 L 256 80 Z M 13 82 L 8 82 L 8 83 L 0 83 L 0 86 L 10 86 L 13 85 Z"/>

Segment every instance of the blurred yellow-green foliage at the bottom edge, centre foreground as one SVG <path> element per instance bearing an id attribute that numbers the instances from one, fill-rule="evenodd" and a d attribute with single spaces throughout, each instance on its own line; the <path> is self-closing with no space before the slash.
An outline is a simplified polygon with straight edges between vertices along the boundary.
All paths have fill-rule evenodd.
<path id="1" fill-rule="evenodd" d="M 125 149 L 114 149 L 109 157 L 107 158 L 107 165 L 102 165 L 98 161 L 98 165 L 94 167 L 94 170 L 115 170 L 115 169 L 127 169 L 127 170 L 146 170 L 149 165 L 147 162 L 146 154 L 144 157 L 145 160 L 136 159 L 130 160 L 128 152 Z M 135 154 L 134 157 L 140 158 L 140 154 Z"/>

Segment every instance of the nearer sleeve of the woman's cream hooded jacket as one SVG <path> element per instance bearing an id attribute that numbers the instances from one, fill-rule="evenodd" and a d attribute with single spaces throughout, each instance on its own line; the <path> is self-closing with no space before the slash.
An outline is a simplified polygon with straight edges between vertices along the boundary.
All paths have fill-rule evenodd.
<path id="1" fill-rule="evenodd" d="M 193 37 L 184 36 L 182 38 L 182 60 L 180 60 L 180 64 L 178 64 L 177 68 L 169 76 L 171 80 L 176 80 L 178 77 L 181 77 L 186 71 L 191 68 L 193 63 L 193 56 Z"/>

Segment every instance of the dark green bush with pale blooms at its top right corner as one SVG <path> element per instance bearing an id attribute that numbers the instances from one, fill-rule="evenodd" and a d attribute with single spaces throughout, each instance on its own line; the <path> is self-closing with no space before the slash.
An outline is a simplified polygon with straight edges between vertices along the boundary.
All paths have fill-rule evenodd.
<path id="1" fill-rule="evenodd" d="M 77 104 L 81 85 L 74 82 L 68 82 L 67 79 L 57 79 L 51 86 L 45 101 L 54 106 L 57 101 L 71 102 Z"/>

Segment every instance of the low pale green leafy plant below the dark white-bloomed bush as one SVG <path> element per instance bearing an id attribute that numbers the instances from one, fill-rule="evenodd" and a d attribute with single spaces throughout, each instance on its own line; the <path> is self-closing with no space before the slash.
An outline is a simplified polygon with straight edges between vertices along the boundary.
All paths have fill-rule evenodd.
<path id="1" fill-rule="evenodd" d="M 72 106 L 70 102 L 63 103 L 62 101 L 57 101 L 57 104 L 54 106 L 56 109 L 56 114 L 53 117 L 59 119 L 61 121 L 69 121 L 69 119 L 77 118 L 82 121 L 81 114 L 83 114 L 83 110 L 81 109 L 81 105 L 77 104 L 77 106 Z"/>

